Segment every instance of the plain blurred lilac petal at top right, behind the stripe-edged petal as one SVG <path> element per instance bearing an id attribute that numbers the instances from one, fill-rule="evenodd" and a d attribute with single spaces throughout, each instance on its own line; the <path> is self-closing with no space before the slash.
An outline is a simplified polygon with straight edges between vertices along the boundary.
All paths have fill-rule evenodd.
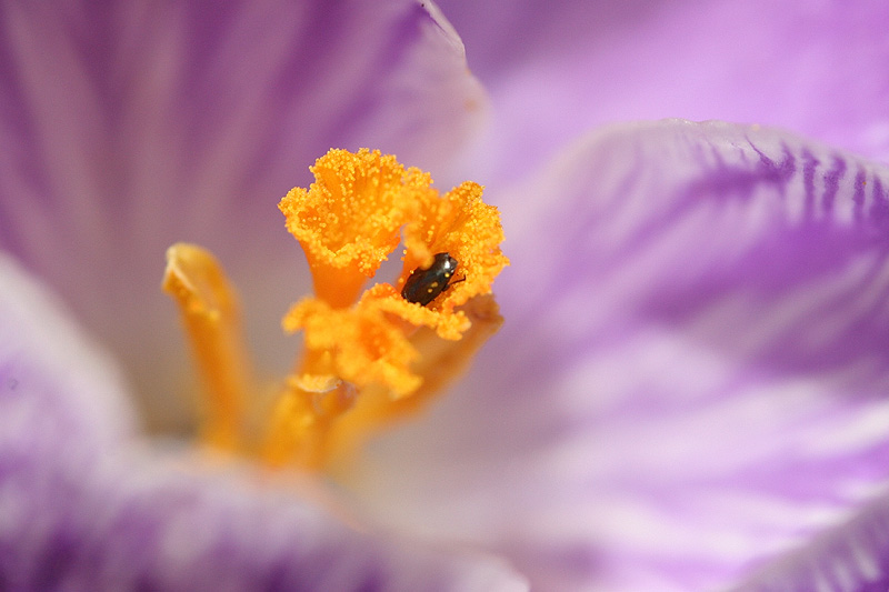
<path id="1" fill-rule="evenodd" d="M 491 93 L 495 124 L 475 157 L 488 184 L 597 126 L 669 117 L 781 126 L 889 157 L 879 0 L 440 4 Z"/>

